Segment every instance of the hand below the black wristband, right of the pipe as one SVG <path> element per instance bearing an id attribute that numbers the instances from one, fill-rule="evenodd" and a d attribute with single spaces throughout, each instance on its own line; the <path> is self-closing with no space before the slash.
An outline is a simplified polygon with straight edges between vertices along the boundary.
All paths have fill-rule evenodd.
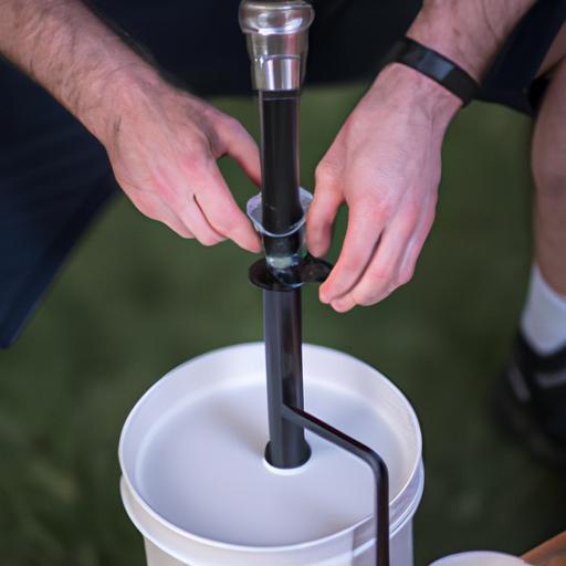
<path id="1" fill-rule="evenodd" d="M 371 305 L 407 283 L 434 218 L 444 132 L 461 102 L 399 64 L 387 66 L 316 169 L 307 245 L 322 256 L 338 207 L 348 227 L 319 289 L 337 312 Z"/>

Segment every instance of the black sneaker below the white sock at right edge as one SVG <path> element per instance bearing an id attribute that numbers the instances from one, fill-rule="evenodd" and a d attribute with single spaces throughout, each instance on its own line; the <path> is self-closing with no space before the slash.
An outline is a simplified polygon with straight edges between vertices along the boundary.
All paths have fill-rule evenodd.
<path id="1" fill-rule="evenodd" d="M 520 333 L 495 389 L 494 409 L 537 458 L 566 469 L 566 346 L 541 356 Z"/>

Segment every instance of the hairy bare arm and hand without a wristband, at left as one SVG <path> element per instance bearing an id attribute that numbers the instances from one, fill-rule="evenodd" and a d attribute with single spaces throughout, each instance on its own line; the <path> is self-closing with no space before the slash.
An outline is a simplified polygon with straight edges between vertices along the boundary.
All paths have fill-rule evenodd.
<path id="1" fill-rule="evenodd" d="M 6 6 L 4 6 L 6 4 Z M 80 0 L 6 0 L 0 54 L 43 85 L 105 146 L 134 205 L 185 238 L 260 240 L 216 160 L 259 184 L 255 143 L 233 118 L 164 82 Z"/>

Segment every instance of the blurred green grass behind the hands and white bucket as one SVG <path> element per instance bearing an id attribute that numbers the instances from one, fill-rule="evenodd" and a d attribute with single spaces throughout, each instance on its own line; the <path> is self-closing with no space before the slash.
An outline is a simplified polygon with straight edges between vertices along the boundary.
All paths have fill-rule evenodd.
<path id="1" fill-rule="evenodd" d="M 306 187 L 360 93 L 305 95 Z M 256 132 L 251 102 L 218 103 Z M 420 417 L 427 488 L 415 525 L 418 565 L 469 548 L 521 553 L 564 528 L 564 479 L 502 436 L 488 410 L 531 263 L 528 128 L 526 118 L 486 105 L 458 117 L 438 220 L 409 285 L 342 316 L 317 303 L 316 290 L 305 292 L 305 339 L 381 369 Z M 233 164 L 222 168 L 243 202 L 251 185 Z M 339 240 L 344 214 L 338 224 Z M 122 423 L 172 366 L 261 338 L 250 261 L 229 243 L 182 241 L 124 198 L 97 222 L 21 340 L 0 354 L 2 566 L 143 564 L 118 495 Z"/>

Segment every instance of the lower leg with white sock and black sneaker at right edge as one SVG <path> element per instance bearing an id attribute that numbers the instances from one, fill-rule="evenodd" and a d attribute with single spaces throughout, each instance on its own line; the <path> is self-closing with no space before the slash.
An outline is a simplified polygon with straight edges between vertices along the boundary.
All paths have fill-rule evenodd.
<path id="1" fill-rule="evenodd" d="M 566 32 L 542 73 L 552 73 L 533 134 L 535 268 L 521 333 L 496 390 L 496 408 L 521 442 L 566 469 Z"/>

